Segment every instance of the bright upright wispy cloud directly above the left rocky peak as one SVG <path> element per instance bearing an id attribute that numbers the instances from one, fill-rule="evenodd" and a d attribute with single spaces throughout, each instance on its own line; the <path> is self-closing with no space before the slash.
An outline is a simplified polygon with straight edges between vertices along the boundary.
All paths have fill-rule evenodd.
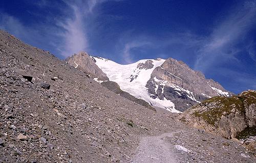
<path id="1" fill-rule="evenodd" d="M 97 14 L 94 13 L 94 8 L 102 2 L 104 1 L 66 2 L 73 14 L 71 17 L 57 22 L 57 25 L 65 30 L 60 34 L 63 43 L 58 48 L 63 57 L 68 57 L 82 50 L 87 51 L 90 48 L 87 29 L 89 18 Z"/>

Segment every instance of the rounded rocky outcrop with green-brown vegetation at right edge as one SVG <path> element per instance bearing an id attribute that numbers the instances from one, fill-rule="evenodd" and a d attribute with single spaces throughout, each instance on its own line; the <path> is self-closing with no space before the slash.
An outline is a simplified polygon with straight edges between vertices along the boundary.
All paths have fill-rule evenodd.
<path id="1" fill-rule="evenodd" d="M 182 113 L 180 120 L 226 139 L 242 139 L 256 134 L 255 105 L 256 91 L 248 90 L 230 98 L 209 98 Z"/>

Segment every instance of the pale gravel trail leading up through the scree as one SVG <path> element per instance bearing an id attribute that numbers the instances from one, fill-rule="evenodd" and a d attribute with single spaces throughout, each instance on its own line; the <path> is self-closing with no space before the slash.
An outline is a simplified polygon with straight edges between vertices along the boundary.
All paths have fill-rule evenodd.
<path id="1" fill-rule="evenodd" d="M 172 144 L 167 139 L 172 137 L 173 133 L 164 133 L 157 137 L 145 137 L 141 140 L 138 147 L 138 153 L 132 159 L 132 163 L 175 163 Z"/>

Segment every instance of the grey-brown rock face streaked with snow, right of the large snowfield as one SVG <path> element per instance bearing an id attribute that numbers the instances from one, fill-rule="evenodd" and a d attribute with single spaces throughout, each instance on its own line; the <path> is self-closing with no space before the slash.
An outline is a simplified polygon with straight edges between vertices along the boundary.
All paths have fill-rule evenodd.
<path id="1" fill-rule="evenodd" d="M 209 97 L 233 95 L 214 80 L 206 79 L 201 72 L 172 58 L 154 69 L 146 88 L 152 98 L 166 98 L 175 103 L 176 110 L 182 112 Z"/>

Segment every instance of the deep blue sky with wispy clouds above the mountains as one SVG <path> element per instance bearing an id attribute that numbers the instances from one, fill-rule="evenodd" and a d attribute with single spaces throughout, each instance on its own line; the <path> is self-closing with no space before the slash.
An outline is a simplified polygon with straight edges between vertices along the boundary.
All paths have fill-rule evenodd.
<path id="1" fill-rule="evenodd" d="M 225 89 L 256 90 L 256 1 L 0 1 L 0 29 L 65 59 L 169 57 Z"/>

